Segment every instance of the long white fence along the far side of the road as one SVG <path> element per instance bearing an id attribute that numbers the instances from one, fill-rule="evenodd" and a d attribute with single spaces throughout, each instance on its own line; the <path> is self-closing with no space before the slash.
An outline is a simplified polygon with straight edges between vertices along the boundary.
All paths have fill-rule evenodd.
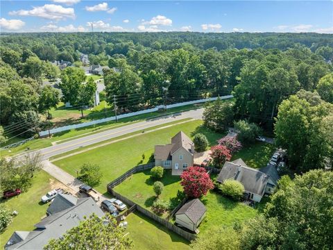
<path id="1" fill-rule="evenodd" d="M 230 95 L 226 95 L 224 97 L 220 97 L 220 99 L 229 99 L 229 98 L 232 98 L 232 94 Z M 182 102 L 182 103 L 174 103 L 174 104 L 170 104 L 170 105 L 167 105 L 167 109 L 168 108 L 176 108 L 176 107 L 180 107 L 180 106 L 186 106 L 186 105 L 190 105 L 190 104 L 195 104 L 195 103 L 204 103 L 206 101 L 215 101 L 218 97 L 211 97 L 211 98 L 206 98 L 206 99 L 199 99 L 199 100 L 195 100 L 195 101 L 185 101 L 185 102 Z M 125 117 L 133 117 L 135 115 L 142 115 L 142 114 L 146 114 L 146 113 L 151 113 L 151 112 L 155 112 L 157 111 L 158 108 L 149 108 L 149 109 L 146 109 L 146 110 L 141 110 L 141 111 L 137 111 L 137 112 L 133 112 L 133 113 L 127 113 L 127 114 L 122 114 L 122 115 L 117 115 L 117 118 L 118 119 L 121 119 L 121 118 L 125 118 Z M 107 118 L 103 118 L 103 119 L 96 119 L 96 120 L 93 120 L 93 121 L 90 121 L 90 122 L 83 122 L 83 123 L 80 123 L 80 124 L 73 124 L 73 125 L 67 125 L 67 126 L 62 126 L 62 127 L 59 127 L 59 128 L 52 128 L 50 129 L 50 133 L 59 133 L 59 132 L 62 132 L 62 131 L 69 131 L 71 129 L 76 129 L 76 128 L 84 128 L 86 126 L 92 126 L 92 125 L 95 125 L 95 124 L 101 124 L 103 122 L 110 122 L 110 121 L 114 121 L 116 119 L 115 116 L 112 116 L 112 117 L 107 117 Z M 45 135 L 49 135 L 49 131 L 41 131 L 40 132 L 40 136 L 45 136 Z"/>

